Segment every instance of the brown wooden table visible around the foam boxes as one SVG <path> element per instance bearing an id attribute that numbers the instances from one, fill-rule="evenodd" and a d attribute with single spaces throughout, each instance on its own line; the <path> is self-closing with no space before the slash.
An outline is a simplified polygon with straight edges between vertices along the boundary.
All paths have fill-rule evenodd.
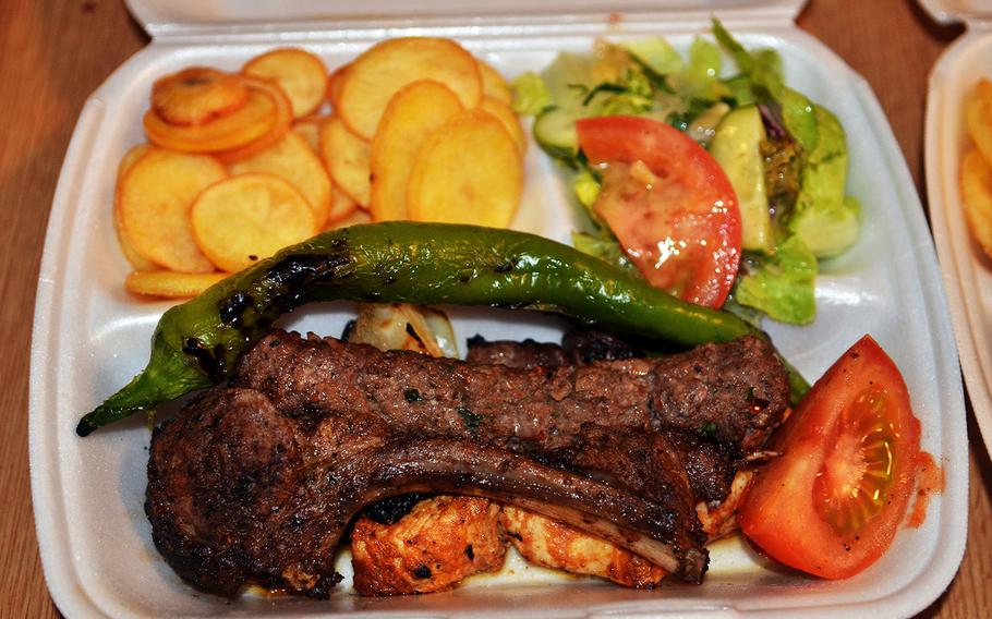
<path id="1" fill-rule="evenodd" d="M 923 192 L 927 75 L 960 34 L 912 1 L 813 0 L 799 24 L 871 83 Z M 27 460 L 31 316 L 45 227 L 86 97 L 148 43 L 120 0 L 0 2 L 0 616 L 57 615 L 41 575 Z M 949 590 L 922 616 L 992 617 L 992 465 L 969 413 L 968 548 Z"/>

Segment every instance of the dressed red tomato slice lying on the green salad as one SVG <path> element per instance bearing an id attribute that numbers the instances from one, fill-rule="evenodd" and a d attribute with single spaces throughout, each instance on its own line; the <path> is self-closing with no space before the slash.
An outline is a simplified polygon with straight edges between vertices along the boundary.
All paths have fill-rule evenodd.
<path id="1" fill-rule="evenodd" d="M 590 118 L 577 130 L 602 170 L 593 210 L 644 278 L 686 301 L 723 305 L 740 264 L 740 211 L 719 163 L 656 120 Z"/>

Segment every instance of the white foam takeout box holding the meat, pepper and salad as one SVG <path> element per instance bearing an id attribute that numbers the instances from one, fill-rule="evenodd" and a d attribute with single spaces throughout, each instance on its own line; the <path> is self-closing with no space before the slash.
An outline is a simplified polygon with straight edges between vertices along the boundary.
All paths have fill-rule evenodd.
<path id="1" fill-rule="evenodd" d="M 967 531 L 967 438 L 957 353 L 923 211 L 888 123 L 866 82 L 796 27 L 801 0 L 132 0 L 152 44 L 86 102 L 59 179 L 38 282 L 32 344 L 31 461 L 35 519 L 51 595 L 70 617 L 150 616 L 892 616 L 924 608 L 947 586 Z M 359 8 L 353 8 L 358 5 Z M 361 11 L 361 15 L 354 14 Z M 620 12 L 615 12 L 620 11 Z M 851 166 L 849 192 L 864 205 L 863 233 L 824 263 L 819 317 L 809 327 L 769 324 L 779 350 L 813 379 L 869 332 L 902 368 L 922 422 L 923 448 L 945 473 L 923 525 L 899 532 L 872 568 L 822 581 L 775 567 L 739 539 L 712 548 L 701 586 L 665 583 L 631 591 L 569 579 L 512 560 L 496 576 L 455 592 L 360 598 L 347 581 L 329 602 L 249 595 L 228 602 L 183 584 L 155 550 L 144 515 L 149 433 L 130 420 L 83 439 L 80 415 L 145 364 L 167 303 L 123 290 L 129 266 L 111 223 L 117 165 L 144 139 L 141 114 L 153 81 L 191 64 L 235 70 L 275 46 L 302 46 L 328 68 L 388 37 L 453 37 L 508 76 L 545 66 L 560 50 L 589 51 L 595 37 L 665 35 L 685 50 L 717 14 L 748 47 L 772 47 L 787 81 L 840 118 Z M 728 62 L 729 64 L 729 62 Z M 897 68 L 893 68 L 897 70 Z M 469 155 L 470 157 L 471 155 Z M 555 165 L 532 145 L 515 228 L 567 241 L 572 206 Z M 992 290 L 992 289 L 989 289 Z M 353 307 L 310 307 L 287 327 L 338 335 Z M 455 310 L 457 333 L 553 340 L 554 318 Z M 342 570 L 347 571 L 347 561 Z"/>

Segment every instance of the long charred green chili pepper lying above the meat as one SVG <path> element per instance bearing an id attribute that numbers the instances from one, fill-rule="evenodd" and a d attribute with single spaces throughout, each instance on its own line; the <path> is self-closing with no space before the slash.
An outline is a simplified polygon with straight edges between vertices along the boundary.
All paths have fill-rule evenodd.
<path id="1" fill-rule="evenodd" d="M 332 230 L 233 275 L 166 312 L 145 369 L 85 415 L 98 427 L 222 381 L 282 314 L 314 301 L 450 303 L 556 312 L 615 331 L 683 345 L 757 331 L 560 243 L 441 223 Z M 793 392 L 809 386 L 793 372 Z"/>

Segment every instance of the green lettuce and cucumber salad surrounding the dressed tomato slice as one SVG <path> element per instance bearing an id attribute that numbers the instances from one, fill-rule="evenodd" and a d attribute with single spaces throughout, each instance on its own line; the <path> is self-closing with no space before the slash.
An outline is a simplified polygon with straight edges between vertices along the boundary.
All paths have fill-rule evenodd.
<path id="1" fill-rule="evenodd" d="M 697 37 L 682 57 L 663 37 L 598 41 L 592 54 L 562 52 L 540 74 L 513 81 L 515 108 L 534 116 L 534 136 L 572 170 L 590 216 L 577 248 L 638 272 L 592 205 L 600 175 L 578 145 L 576 121 L 640 116 L 666 122 L 710 149 L 741 211 L 743 256 L 725 308 L 753 319 L 815 317 L 818 259 L 858 238 L 860 205 L 845 196 L 848 154 L 837 118 L 785 85 L 773 49 L 748 50 L 718 21 L 716 43 Z M 736 66 L 726 76 L 725 60 Z"/>

